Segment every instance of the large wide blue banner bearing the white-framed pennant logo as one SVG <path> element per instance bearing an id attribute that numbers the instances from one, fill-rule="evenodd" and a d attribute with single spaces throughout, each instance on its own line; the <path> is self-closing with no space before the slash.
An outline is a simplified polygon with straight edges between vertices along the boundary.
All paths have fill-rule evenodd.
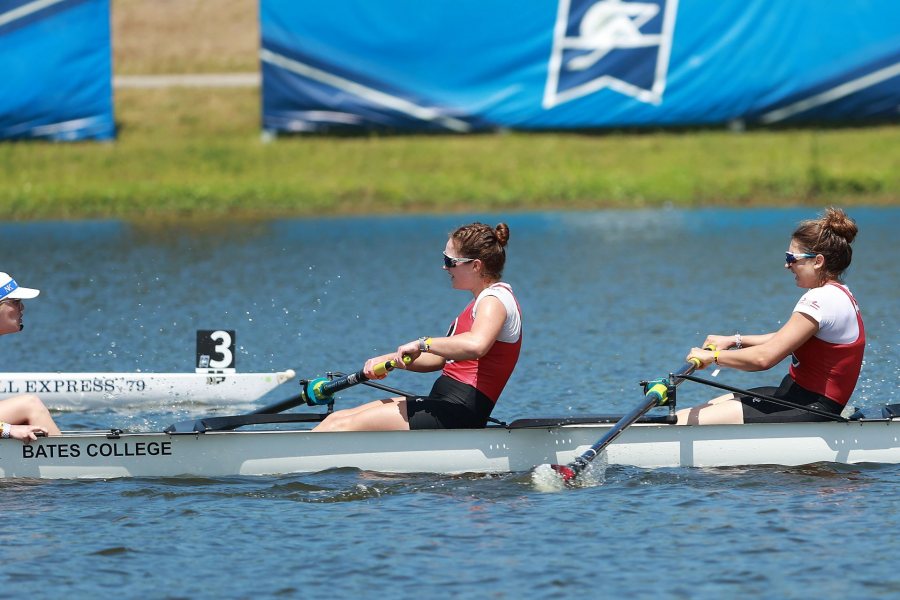
<path id="1" fill-rule="evenodd" d="M 263 127 L 898 117 L 897 0 L 261 0 Z"/>

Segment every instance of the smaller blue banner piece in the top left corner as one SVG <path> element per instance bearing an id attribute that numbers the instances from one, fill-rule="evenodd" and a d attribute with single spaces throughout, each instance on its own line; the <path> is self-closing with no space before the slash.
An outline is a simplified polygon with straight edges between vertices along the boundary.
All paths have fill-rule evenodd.
<path id="1" fill-rule="evenodd" d="M 110 139 L 110 0 L 0 0 L 0 139 Z"/>

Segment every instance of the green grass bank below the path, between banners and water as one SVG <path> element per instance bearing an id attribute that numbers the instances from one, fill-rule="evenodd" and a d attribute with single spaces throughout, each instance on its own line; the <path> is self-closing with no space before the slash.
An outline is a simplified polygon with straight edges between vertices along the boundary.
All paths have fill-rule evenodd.
<path id="1" fill-rule="evenodd" d="M 116 100 L 116 142 L 0 144 L 8 219 L 900 201 L 900 127 L 263 143 L 258 90 Z"/>

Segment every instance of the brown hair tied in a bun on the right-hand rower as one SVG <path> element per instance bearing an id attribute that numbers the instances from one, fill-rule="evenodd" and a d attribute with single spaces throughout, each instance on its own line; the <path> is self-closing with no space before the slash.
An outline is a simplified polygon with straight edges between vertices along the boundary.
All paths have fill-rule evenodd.
<path id="1" fill-rule="evenodd" d="M 825 258 L 825 277 L 840 280 L 853 259 L 850 244 L 856 238 L 857 231 L 856 221 L 842 209 L 831 207 L 818 219 L 800 223 L 791 239 L 797 240 L 804 251 L 821 254 Z"/>

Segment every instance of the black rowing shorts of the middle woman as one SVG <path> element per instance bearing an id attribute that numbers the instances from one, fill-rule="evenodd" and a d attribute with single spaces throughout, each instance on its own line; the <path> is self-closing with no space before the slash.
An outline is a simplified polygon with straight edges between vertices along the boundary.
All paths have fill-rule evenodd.
<path id="1" fill-rule="evenodd" d="M 408 398 L 410 429 L 480 429 L 494 409 L 490 398 L 467 383 L 441 375 L 425 398 Z"/>

